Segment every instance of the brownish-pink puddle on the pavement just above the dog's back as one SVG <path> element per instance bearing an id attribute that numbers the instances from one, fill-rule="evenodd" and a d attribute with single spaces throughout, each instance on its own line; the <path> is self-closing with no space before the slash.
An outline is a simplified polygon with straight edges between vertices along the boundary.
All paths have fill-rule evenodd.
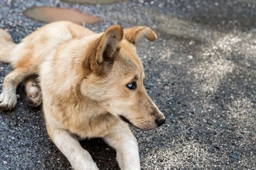
<path id="1" fill-rule="evenodd" d="M 99 17 L 82 13 L 72 8 L 54 8 L 50 6 L 33 7 L 23 12 L 28 18 L 40 22 L 54 22 L 59 20 L 68 20 L 76 24 L 93 24 L 100 20 Z"/>

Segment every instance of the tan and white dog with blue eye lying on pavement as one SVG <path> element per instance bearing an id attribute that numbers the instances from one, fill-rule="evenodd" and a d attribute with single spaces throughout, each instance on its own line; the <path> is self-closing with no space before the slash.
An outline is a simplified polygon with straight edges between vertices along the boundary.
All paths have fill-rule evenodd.
<path id="1" fill-rule="evenodd" d="M 140 169 L 129 125 L 149 131 L 166 118 L 148 96 L 136 54 L 152 29 L 112 25 L 95 33 L 72 22 L 52 22 L 19 44 L 0 30 L 0 60 L 15 68 L 4 78 L 0 108 L 12 110 L 24 81 L 28 104 L 42 103 L 47 133 L 74 169 L 98 169 L 79 139 L 103 138 L 115 148 L 120 169 Z"/>

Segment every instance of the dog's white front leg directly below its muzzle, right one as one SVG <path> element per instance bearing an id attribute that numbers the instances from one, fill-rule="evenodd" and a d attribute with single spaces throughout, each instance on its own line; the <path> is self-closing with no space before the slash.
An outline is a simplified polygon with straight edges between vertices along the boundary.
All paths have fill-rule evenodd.
<path id="1" fill-rule="evenodd" d="M 137 141 L 129 126 L 119 122 L 104 140 L 116 150 L 116 160 L 122 170 L 140 169 L 140 156 Z"/>

